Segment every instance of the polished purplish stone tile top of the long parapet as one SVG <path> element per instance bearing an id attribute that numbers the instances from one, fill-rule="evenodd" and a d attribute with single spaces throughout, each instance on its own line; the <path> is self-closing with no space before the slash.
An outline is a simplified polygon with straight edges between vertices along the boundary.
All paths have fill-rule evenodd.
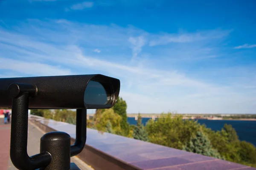
<path id="1" fill-rule="evenodd" d="M 41 124 L 63 131 L 76 138 L 76 125 L 38 116 L 30 116 Z M 189 153 L 171 147 L 126 138 L 111 133 L 99 133 L 87 128 L 86 144 L 127 164 L 143 170 L 256 170 L 229 161 Z"/>

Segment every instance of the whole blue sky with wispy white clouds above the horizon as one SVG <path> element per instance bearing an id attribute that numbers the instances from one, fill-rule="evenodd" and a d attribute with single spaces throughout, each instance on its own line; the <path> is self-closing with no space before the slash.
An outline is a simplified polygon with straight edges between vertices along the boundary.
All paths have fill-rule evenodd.
<path id="1" fill-rule="evenodd" d="M 100 73 L 120 79 L 128 113 L 255 113 L 255 9 L 255 0 L 0 0 L 0 78 Z"/>

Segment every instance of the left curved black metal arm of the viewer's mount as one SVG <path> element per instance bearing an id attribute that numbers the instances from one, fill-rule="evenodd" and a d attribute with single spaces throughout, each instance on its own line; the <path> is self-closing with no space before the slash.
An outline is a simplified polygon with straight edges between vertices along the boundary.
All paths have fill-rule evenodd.
<path id="1" fill-rule="evenodd" d="M 41 166 L 47 166 L 51 161 L 51 156 L 49 153 L 28 156 L 28 103 L 29 97 L 31 97 L 29 92 L 32 92 L 35 88 L 29 84 L 17 85 L 16 87 L 18 88 L 10 88 L 14 90 L 12 96 L 15 97 L 13 94 L 17 95 L 12 100 L 10 158 L 14 166 L 19 170 L 35 170 Z M 17 89 L 20 89 L 18 90 L 19 92 L 17 92 Z M 20 92 L 23 92 L 23 94 L 20 94 Z"/>

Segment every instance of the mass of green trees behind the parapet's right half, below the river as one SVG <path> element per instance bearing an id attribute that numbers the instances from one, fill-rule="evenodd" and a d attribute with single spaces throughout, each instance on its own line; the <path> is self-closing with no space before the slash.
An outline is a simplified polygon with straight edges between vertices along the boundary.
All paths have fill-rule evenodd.
<path id="1" fill-rule="evenodd" d="M 197 121 L 182 120 L 180 115 L 162 114 L 157 121 L 148 121 L 145 127 L 152 143 L 256 167 L 256 148 L 248 142 L 239 141 L 231 125 L 215 132 Z M 199 146 L 198 141 L 204 141 L 204 145 Z"/>

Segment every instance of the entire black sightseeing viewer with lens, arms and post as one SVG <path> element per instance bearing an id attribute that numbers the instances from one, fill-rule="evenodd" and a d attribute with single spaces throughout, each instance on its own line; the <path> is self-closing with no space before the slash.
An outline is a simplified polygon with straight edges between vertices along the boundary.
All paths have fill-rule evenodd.
<path id="1" fill-rule="evenodd" d="M 111 108 L 120 81 L 105 75 L 0 78 L 0 107 L 12 108 L 10 158 L 19 170 L 78 170 L 70 157 L 86 142 L 86 109 Z M 41 137 L 40 153 L 27 154 L 28 109 L 76 109 L 76 141 L 50 132 Z"/>

